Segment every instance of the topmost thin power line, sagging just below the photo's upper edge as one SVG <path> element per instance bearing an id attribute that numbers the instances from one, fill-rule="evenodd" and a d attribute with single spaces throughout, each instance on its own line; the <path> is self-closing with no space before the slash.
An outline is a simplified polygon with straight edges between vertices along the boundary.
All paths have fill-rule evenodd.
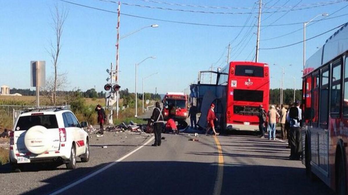
<path id="1" fill-rule="evenodd" d="M 181 6 L 181 7 L 194 7 L 194 8 L 212 8 L 212 9 L 253 9 L 251 7 L 224 7 L 224 6 L 202 6 L 202 5 L 187 5 L 187 4 L 181 4 L 181 3 L 171 3 L 171 2 L 163 2 L 163 1 L 156 1 L 156 0 L 138 0 L 142 2 L 147 2 L 147 3 L 157 3 L 157 4 L 164 4 L 164 5 L 171 5 L 171 6 Z M 273 1 L 273 0 L 271 0 Z M 266 4 L 270 3 L 271 1 L 267 2 Z M 279 0 L 278 0 L 279 1 Z M 335 1 L 326 1 L 326 2 L 318 2 L 318 3 L 309 3 L 309 4 L 303 4 L 299 5 L 296 7 L 308 7 L 308 6 L 325 6 L 325 5 L 331 5 L 334 3 L 340 3 L 346 0 L 335 0 Z M 114 1 L 110 1 L 114 2 Z M 276 4 L 276 3 L 275 3 Z M 274 4 L 274 5 L 275 5 Z M 266 9 L 274 9 L 274 8 L 290 8 L 293 6 L 281 6 L 281 7 L 274 7 L 270 6 L 267 7 L 265 6 L 264 8 Z"/>

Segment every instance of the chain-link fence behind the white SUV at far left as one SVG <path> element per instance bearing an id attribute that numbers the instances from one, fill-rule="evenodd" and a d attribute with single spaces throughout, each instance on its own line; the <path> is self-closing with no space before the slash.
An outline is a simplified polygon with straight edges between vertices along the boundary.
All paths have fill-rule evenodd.
<path id="1" fill-rule="evenodd" d="M 54 109 L 54 108 L 64 108 L 70 110 L 70 105 L 62 105 L 62 106 L 40 106 L 40 109 Z M 24 110 L 37 109 L 36 106 L 33 105 L 0 105 L 0 114 L 1 118 L 5 120 L 12 119 L 12 125 L 14 125 L 17 117 Z M 7 121 L 8 122 L 8 121 Z"/>

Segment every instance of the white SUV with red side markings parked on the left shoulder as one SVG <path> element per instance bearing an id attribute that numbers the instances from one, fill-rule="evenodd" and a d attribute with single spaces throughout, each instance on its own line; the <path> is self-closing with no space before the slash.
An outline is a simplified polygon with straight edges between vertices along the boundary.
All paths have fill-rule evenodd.
<path id="1" fill-rule="evenodd" d="M 89 160 L 89 138 L 75 115 L 61 108 L 23 111 L 10 134 L 10 163 L 21 169 L 25 163 L 66 163 L 76 168 L 76 156 Z"/>

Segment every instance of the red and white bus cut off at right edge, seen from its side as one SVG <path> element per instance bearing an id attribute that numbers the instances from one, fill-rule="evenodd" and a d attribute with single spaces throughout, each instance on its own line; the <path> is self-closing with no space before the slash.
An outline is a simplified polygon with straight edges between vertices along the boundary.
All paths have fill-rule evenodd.
<path id="1" fill-rule="evenodd" d="M 303 70 L 302 163 L 337 194 L 347 194 L 348 23 L 306 61 Z"/>

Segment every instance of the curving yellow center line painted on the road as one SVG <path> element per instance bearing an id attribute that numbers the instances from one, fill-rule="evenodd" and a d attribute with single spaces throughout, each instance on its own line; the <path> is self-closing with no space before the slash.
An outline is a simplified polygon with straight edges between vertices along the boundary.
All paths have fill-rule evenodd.
<path id="1" fill-rule="evenodd" d="M 222 148 L 217 137 L 214 137 L 215 144 L 217 146 L 217 152 L 219 153 L 218 161 L 217 161 L 217 174 L 214 185 L 214 195 L 220 195 L 222 189 L 222 179 L 223 179 L 223 155 Z"/>

